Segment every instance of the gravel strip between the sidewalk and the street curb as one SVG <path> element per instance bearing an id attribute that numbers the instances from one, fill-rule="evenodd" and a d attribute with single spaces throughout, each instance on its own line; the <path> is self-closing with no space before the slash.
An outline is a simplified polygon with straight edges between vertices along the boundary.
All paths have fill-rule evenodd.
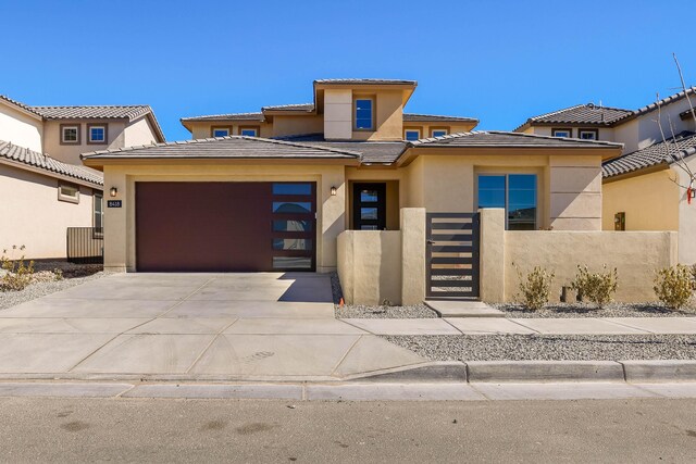
<path id="1" fill-rule="evenodd" d="M 696 360 L 693 335 L 384 336 L 432 361 Z"/>

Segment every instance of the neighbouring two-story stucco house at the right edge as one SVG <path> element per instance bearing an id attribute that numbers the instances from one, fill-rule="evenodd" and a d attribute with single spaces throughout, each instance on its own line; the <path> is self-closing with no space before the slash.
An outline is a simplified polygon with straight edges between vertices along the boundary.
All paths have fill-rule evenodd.
<path id="1" fill-rule="evenodd" d="M 692 104 L 694 88 L 638 110 L 571 106 L 531 117 L 515 130 L 623 143 L 622 155 L 602 166 L 602 228 L 678 230 L 680 261 L 693 264 L 696 202 L 687 195 L 696 172 Z"/>

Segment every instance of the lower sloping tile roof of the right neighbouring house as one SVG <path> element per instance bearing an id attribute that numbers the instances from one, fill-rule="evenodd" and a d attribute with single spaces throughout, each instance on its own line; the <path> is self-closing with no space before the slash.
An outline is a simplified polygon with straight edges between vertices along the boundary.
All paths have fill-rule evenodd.
<path id="1" fill-rule="evenodd" d="M 696 153 L 696 133 L 683 131 L 673 139 L 606 161 L 601 166 L 602 176 L 613 177 L 659 164 L 671 164 L 694 153 Z"/>

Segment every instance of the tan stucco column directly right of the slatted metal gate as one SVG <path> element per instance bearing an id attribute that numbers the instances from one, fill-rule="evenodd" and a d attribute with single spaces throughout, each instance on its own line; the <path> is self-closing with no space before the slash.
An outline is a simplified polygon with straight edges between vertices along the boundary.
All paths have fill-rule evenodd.
<path id="1" fill-rule="evenodd" d="M 480 239 L 480 293 L 486 302 L 505 299 L 505 209 L 478 210 L 481 215 Z"/>

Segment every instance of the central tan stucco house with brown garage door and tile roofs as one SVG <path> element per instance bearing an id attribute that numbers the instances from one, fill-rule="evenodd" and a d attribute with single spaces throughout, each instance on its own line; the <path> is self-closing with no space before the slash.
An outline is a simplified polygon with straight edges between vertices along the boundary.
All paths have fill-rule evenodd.
<path id="1" fill-rule="evenodd" d="M 410 281 L 395 267 L 400 255 L 387 259 L 382 251 L 425 247 L 425 237 L 409 244 L 403 235 L 425 234 L 425 213 L 422 221 L 409 220 L 414 210 L 467 218 L 480 208 L 498 208 L 505 213 L 496 227 L 533 234 L 601 229 L 601 163 L 618 156 L 620 145 L 460 131 L 475 120 L 405 115 L 415 87 L 409 80 L 316 80 L 311 105 L 189 117 L 184 125 L 202 139 L 85 153 L 84 163 L 102 170 L 104 188 L 121 200 L 120 208 L 105 210 L 105 266 L 129 272 L 339 268 L 345 288 L 352 288 L 349 275 L 370 278 L 382 289 L 407 283 L 415 297 L 384 290 L 385 298 L 412 301 L 421 294 L 421 280 Z M 245 133 L 252 122 L 257 131 Z M 447 134 L 403 140 L 413 127 L 421 135 L 436 127 Z M 463 231 L 455 239 L 473 226 L 458 227 Z M 348 246 L 351 230 L 376 240 L 374 248 L 362 254 L 358 246 Z M 502 229 L 499 234 L 502 240 Z M 457 259 L 469 253 L 468 264 L 438 267 L 435 274 L 477 269 L 474 249 L 452 248 Z M 425 254 L 418 259 L 411 269 L 424 266 Z M 349 262 L 361 271 L 346 271 Z"/>

